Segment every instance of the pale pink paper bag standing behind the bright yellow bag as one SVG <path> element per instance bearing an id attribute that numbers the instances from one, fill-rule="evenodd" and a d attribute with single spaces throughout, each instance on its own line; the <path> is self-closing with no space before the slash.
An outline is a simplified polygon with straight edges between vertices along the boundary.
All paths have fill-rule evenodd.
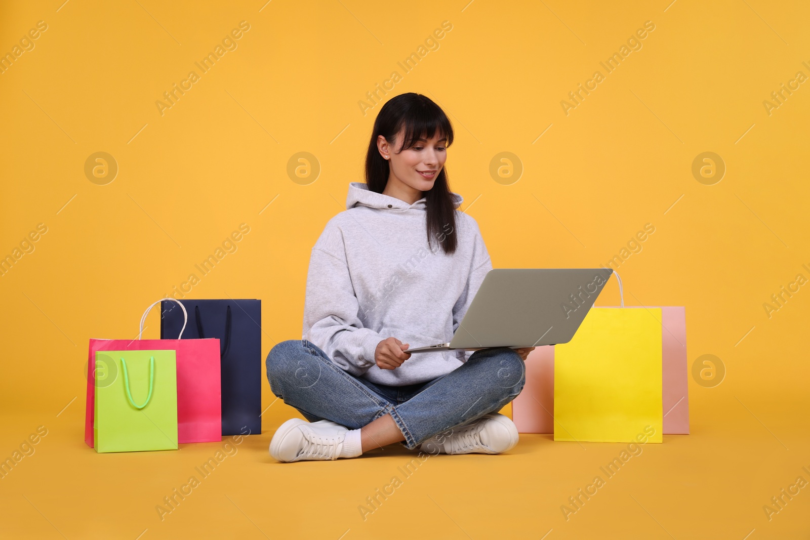
<path id="1" fill-rule="evenodd" d="M 689 433 L 689 372 L 686 357 L 686 309 L 683 306 L 625 306 L 621 288 L 620 308 L 661 308 L 663 347 L 663 433 Z M 617 307 L 619 308 L 619 307 Z M 526 384 L 514 398 L 512 420 L 521 433 L 554 432 L 554 347 L 537 347 L 526 359 Z"/>

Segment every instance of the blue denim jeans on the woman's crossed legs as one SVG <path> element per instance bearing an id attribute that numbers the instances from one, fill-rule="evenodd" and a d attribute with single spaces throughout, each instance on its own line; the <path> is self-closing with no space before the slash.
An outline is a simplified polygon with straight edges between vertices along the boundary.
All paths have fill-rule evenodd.
<path id="1" fill-rule="evenodd" d="M 509 347 L 475 351 L 452 372 L 405 386 L 379 385 L 353 376 L 306 339 L 279 342 L 266 364 L 275 396 L 305 419 L 327 419 L 358 429 L 390 414 L 405 436 L 402 444 L 407 449 L 497 412 L 518 396 L 526 381 L 526 366 Z"/>

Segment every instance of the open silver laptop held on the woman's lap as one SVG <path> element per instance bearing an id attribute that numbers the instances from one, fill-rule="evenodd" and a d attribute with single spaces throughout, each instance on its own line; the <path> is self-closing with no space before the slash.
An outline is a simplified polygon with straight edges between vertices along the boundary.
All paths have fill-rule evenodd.
<path id="1" fill-rule="evenodd" d="M 450 342 L 404 352 L 520 349 L 569 342 L 611 274 L 610 268 L 489 270 Z"/>

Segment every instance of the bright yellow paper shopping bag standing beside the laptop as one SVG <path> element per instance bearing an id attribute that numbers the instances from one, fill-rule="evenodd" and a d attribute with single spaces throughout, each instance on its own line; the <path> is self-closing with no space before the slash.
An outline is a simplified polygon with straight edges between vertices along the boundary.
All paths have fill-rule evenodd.
<path id="1" fill-rule="evenodd" d="M 663 441 L 661 319 L 661 308 L 590 308 L 555 346 L 554 440 Z"/>

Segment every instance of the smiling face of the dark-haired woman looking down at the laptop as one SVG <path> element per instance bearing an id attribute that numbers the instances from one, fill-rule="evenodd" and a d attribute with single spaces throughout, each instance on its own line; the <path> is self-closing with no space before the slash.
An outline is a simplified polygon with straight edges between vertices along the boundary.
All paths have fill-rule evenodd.
<path id="1" fill-rule="evenodd" d="M 402 131 L 397 134 L 394 145 L 390 145 L 382 135 L 377 138 L 380 154 L 390 162 L 390 176 L 412 189 L 429 191 L 447 160 L 447 138 L 437 132 L 433 138 L 425 139 L 423 136 L 412 147 L 399 151 L 402 141 Z"/>

